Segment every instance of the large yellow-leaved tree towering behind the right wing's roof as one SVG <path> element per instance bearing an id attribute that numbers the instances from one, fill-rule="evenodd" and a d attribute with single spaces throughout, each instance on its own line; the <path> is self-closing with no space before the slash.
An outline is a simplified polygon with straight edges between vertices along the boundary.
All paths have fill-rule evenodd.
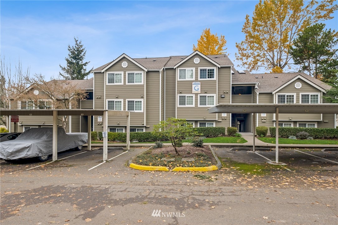
<path id="1" fill-rule="evenodd" d="M 290 68 L 289 49 L 297 34 L 311 24 L 332 19 L 337 8 L 334 0 L 260 0 L 252 19 L 246 15 L 245 39 L 236 43 L 236 60 L 251 71 L 283 72 Z"/>

